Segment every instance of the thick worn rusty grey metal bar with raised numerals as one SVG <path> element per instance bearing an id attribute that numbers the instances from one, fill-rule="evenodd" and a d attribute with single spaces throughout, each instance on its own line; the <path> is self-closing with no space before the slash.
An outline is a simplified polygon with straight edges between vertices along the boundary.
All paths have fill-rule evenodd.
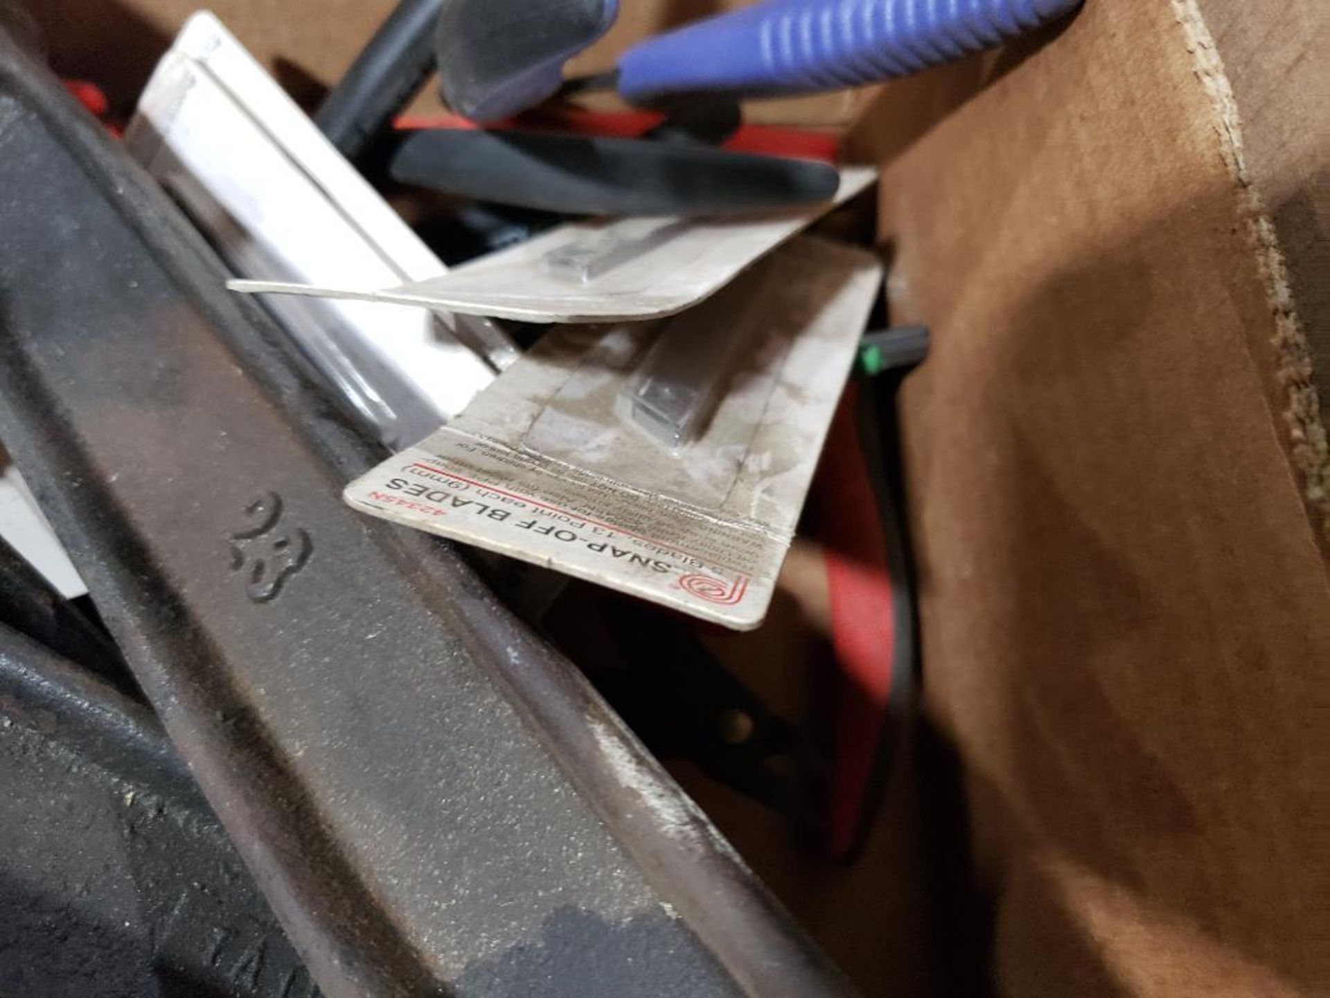
<path id="1" fill-rule="evenodd" d="M 0 37 L 0 435 L 325 993 L 842 993 L 221 277 Z"/>

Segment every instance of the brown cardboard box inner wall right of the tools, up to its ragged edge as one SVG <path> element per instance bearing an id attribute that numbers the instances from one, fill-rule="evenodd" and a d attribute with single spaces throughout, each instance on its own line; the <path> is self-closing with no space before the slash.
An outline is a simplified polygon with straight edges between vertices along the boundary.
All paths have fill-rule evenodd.
<path id="1" fill-rule="evenodd" d="M 1196 16 L 1091 3 L 857 134 L 894 319 L 934 330 L 902 399 L 924 681 L 1004 994 L 1330 979 L 1314 423 Z"/>

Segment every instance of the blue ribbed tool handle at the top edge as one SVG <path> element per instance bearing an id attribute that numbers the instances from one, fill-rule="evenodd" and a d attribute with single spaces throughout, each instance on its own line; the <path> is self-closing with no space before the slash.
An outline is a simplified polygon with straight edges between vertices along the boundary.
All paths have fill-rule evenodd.
<path id="1" fill-rule="evenodd" d="M 960 59 L 1080 0 L 766 0 L 648 39 L 618 63 L 637 104 L 670 94 L 835 90 Z"/>

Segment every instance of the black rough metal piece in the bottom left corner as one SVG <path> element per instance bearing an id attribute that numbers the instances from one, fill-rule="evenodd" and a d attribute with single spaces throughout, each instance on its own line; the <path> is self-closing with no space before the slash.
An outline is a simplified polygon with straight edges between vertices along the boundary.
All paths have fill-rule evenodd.
<path id="1" fill-rule="evenodd" d="M 0 993 L 317 998 L 152 711 L 0 625 Z"/>

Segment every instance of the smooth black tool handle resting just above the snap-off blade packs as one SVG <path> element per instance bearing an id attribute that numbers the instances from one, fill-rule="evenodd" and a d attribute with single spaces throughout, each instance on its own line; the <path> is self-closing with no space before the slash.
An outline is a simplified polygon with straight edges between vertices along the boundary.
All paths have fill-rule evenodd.
<path id="1" fill-rule="evenodd" d="M 841 182 L 825 162 L 545 132 L 415 132 L 390 169 L 450 194 L 565 214 L 746 214 L 827 201 Z"/>

